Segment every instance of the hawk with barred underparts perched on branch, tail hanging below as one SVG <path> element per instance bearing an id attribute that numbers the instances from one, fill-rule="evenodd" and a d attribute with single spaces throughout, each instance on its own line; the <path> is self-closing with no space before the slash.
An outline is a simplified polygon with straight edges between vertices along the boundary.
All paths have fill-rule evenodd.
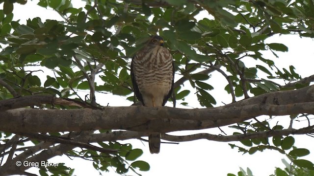
<path id="1" fill-rule="evenodd" d="M 153 36 L 148 44 L 132 59 L 131 78 L 137 99 L 146 107 L 166 104 L 173 90 L 174 63 L 169 50 L 163 47 L 163 39 Z M 149 149 L 152 154 L 160 150 L 160 133 L 149 133 Z"/>

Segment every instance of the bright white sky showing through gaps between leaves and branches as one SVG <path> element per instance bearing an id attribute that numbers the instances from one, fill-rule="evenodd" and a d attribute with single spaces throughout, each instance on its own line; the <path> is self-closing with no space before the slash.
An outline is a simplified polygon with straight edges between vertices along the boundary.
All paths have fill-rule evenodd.
<path id="1" fill-rule="evenodd" d="M 75 2 L 77 0 L 73 0 Z M 79 3 L 79 1 L 77 1 Z M 52 10 L 47 10 L 34 5 L 33 1 L 28 0 L 26 5 L 14 4 L 14 20 L 20 19 L 21 22 L 26 22 L 26 19 L 40 17 L 42 21 L 46 19 L 57 19 L 58 14 Z M 2 8 L 2 7 L 0 7 Z M 313 57 L 314 41 L 312 39 L 303 38 L 300 39 L 297 35 L 286 35 L 278 36 L 275 35 L 270 39 L 266 40 L 267 43 L 282 43 L 286 44 L 289 51 L 286 53 L 278 52 L 279 58 L 275 58 L 271 52 L 263 52 L 264 58 L 272 59 L 275 61 L 277 66 L 280 68 L 288 68 L 288 66 L 293 65 L 296 68 L 296 72 L 302 77 L 313 75 Z M 247 67 L 255 66 L 255 60 L 251 59 L 251 63 L 246 63 Z M 248 62 L 248 61 L 247 61 Z M 260 63 L 259 63 L 260 64 Z M 176 75 L 178 76 L 178 75 Z M 176 80 L 178 77 L 176 78 Z M 214 90 L 210 91 L 210 94 L 214 96 L 217 100 L 217 106 L 223 106 L 221 103 L 230 103 L 231 95 L 228 95 L 224 90 L 227 81 L 219 73 L 212 74 L 209 79 L 209 84 L 214 86 Z M 185 85 L 188 85 L 186 82 Z M 188 88 L 188 86 L 184 87 Z M 194 93 L 193 91 L 191 93 Z M 96 95 L 97 102 L 102 105 L 109 106 L 130 106 L 131 102 L 126 101 L 125 97 L 120 96 L 110 96 L 107 94 L 98 93 Z M 112 101 L 114 100 L 114 101 Z M 189 105 L 193 108 L 200 108 L 196 98 L 189 98 Z M 170 103 L 168 106 L 172 106 Z M 260 117 L 259 119 L 265 119 L 268 117 Z M 275 124 L 279 121 L 279 124 L 283 126 L 288 126 L 286 122 L 281 120 L 289 121 L 288 116 L 280 116 L 272 119 L 270 123 Z M 286 124 L 284 124 L 286 123 Z M 222 129 L 229 135 L 232 134 L 232 130 L 228 127 L 222 127 Z M 213 134 L 219 134 L 220 131 L 215 129 L 202 130 L 202 131 L 192 131 L 192 132 L 175 132 L 173 134 L 184 135 L 198 132 L 209 132 Z M 298 148 L 307 148 L 311 150 L 312 154 L 304 159 L 311 160 L 314 158 L 314 139 L 306 135 L 295 135 L 296 146 Z M 144 154 L 138 158 L 139 160 L 147 161 L 151 170 L 149 172 L 139 172 L 144 176 L 226 176 L 228 173 L 235 174 L 239 171 L 239 167 L 246 170 L 249 167 L 255 176 L 267 176 L 273 174 L 275 167 L 284 168 L 281 162 L 285 155 L 280 154 L 277 151 L 266 150 L 264 152 L 257 152 L 253 155 L 238 153 L 236 149 L 231 149 L 227 142 L 215 142 L 208 140 L 197 140 L 191 142 L 182 142 L 179 145 L 176 144 L 161 144 L 161 150 L 159 154 L 150 154 L 148 143 L 141 142 L 139 140 L 126 140 L 119 141 L 120 143 L 131 143 L 133 148 L 143 149 Z M 241 144 L 239 142 L 230 142 L 236 145 Z M 310 147 L 311 146 L 311 147 Z M 80 158 L 75 158 L 70 160 L 66 156 L 56 156 L 49 160 L 50 162 L 64 162 L 66 166 L 75 168 L 75 174 L 77 176 L 84 175 L 99 175 L 96 171 L 91 161 L 85 161 Z M 312 162 L 314 160 L 312 159 Z M 131 162 L 130 162 L 131 163 Z M 30 169 L 34 174 L 38 175 L 37 169 Z M 129 172 L 129 175 L 136 174 Z M 107 176 L 119 176 L 115 174 L 114 171 L 110 173 L 103 173 Z"/>

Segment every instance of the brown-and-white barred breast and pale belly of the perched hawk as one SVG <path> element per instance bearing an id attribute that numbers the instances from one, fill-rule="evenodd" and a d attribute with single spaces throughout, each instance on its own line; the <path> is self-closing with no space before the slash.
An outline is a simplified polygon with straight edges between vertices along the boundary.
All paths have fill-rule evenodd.
<path id="1" fill-rule="evenodd" d="M 173 83 L 173 59 L 167 48 L 147 47 L 133 58 L 134 77 L 147 107 L 163 106 Z"/>

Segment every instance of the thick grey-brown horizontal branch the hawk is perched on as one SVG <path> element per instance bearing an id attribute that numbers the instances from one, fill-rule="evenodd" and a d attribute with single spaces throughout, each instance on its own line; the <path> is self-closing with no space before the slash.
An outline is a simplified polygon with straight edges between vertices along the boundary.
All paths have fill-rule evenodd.
<path id="1" fill-rule="evenodd" d="M 242 122 L 260 115 L 314 113 L 314 86 L 278 91 L 209 109 L 103 107 L 102 110 L 0 111 L 0 131 L 65 132 L 98 129 L 138 132 L 199 130 Z"/>

